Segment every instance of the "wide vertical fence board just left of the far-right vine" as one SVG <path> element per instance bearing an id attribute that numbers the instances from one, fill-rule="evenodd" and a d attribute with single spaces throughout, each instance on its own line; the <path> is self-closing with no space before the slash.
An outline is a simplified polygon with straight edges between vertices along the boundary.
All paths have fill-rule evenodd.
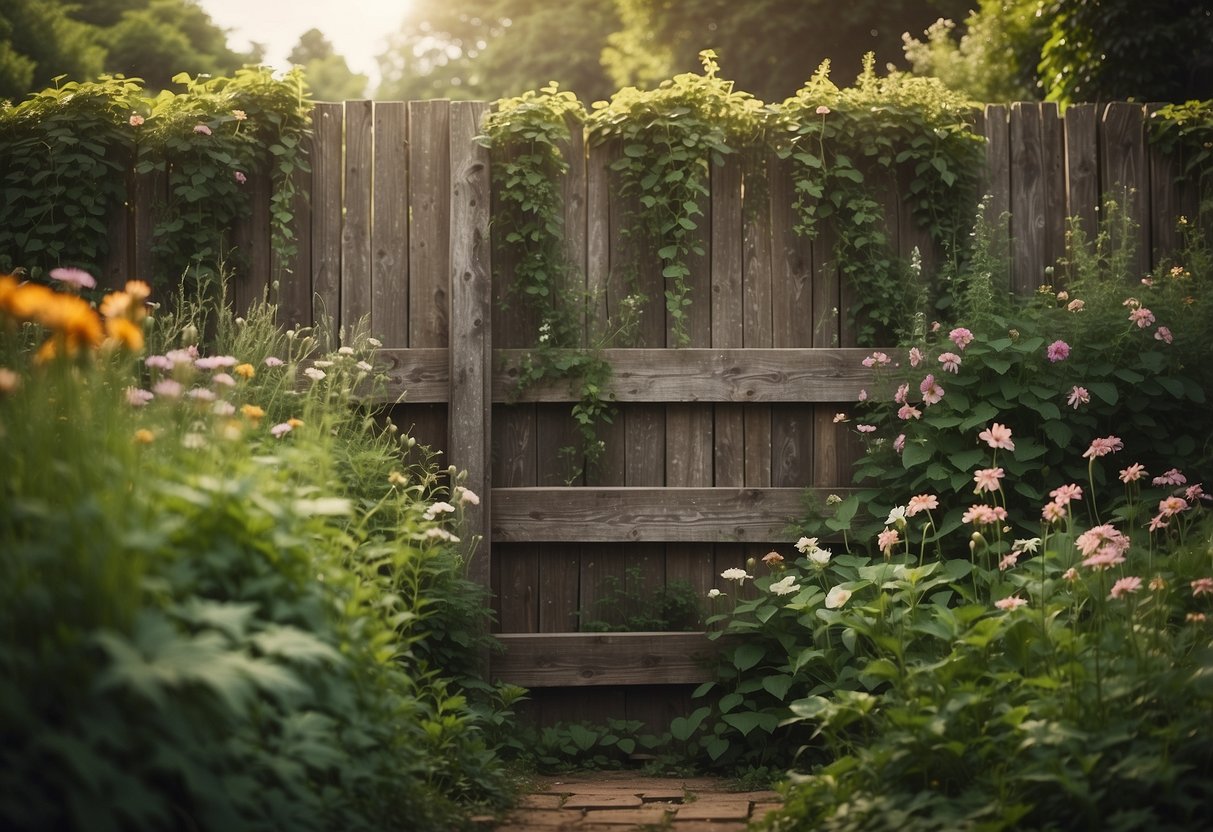
<path id="1" fill-rule="evenodd" d="M 1146 165 L 1144 108 L 1141 104 L 1112 102 L 1100 120 L 1100 181 L 1104 198 L 1115 200 L 1137 224 L 1129 268 L 1132 278 L 1149 269 L 1150 258 L 1150 171 Z"/>

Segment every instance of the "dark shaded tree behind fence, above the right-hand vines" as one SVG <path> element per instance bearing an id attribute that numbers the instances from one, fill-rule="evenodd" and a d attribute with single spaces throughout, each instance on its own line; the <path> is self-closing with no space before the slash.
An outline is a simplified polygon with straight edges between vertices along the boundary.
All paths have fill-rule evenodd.
<path id="1" fill-rule="evenodd" d="M 615 0 L 621 28 L 603 53 L 619 86 L 654 86 L 699 69 L 713 49 L 725 76 L 764 101 L 782 101 L 826 58 L 831 79 L 855 79 L 866 52 L 902 62 L 901 34 L 921 32 L 967 0 Z"/>

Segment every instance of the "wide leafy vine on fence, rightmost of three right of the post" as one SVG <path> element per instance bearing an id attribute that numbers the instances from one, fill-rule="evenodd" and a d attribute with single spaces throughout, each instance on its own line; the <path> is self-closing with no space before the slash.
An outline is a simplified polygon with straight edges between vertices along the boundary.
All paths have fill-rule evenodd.
<path id="1" fill-rule="evenodd" d="M 860 344 L 894 335 L 898 315 L 912 312 L 924 289 L 892 250 L 882 194 L 898 195 L 933 243 L 962 256 L 983 164 L 975 112 L 938 79 L 877 76 L 871 55 L 853 87 L 830 81 L 827 61 L 776 108 L 769 135 L 792 160 L 796 230 L 813 238 L 833 218 Z"/>

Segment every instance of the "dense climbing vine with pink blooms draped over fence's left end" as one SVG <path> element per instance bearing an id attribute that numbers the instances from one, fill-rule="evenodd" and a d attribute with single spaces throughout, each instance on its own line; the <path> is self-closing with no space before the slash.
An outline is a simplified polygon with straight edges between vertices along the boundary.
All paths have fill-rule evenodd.
<path id="1" fill-rule="evenodd" d="M 164 176 L 155 205 L 153 281 L 194 280 L 232 256 L 233 224 L 251 210 L 249 182 L 270 179 L 270 240 L 281 261 L 309 102 L 298 70 L 246 68 L 230 78 L 178 75 L 152 98 L 138 79 L 63 82 L 0 108 L 0 267 L 38 277 L 56 266 L 101 272 L 109 227 L 131 186 Z"/>

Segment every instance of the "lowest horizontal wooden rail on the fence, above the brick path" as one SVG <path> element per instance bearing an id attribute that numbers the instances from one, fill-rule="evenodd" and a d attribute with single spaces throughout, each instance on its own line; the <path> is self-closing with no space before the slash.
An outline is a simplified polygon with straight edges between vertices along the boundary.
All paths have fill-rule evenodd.
<path id="1" fill-rule="evenodd" d="M 705 633 L 499 636 L 491 678 L 526 688 L 691 684 L 714 677 L 719 643 Z"/>

